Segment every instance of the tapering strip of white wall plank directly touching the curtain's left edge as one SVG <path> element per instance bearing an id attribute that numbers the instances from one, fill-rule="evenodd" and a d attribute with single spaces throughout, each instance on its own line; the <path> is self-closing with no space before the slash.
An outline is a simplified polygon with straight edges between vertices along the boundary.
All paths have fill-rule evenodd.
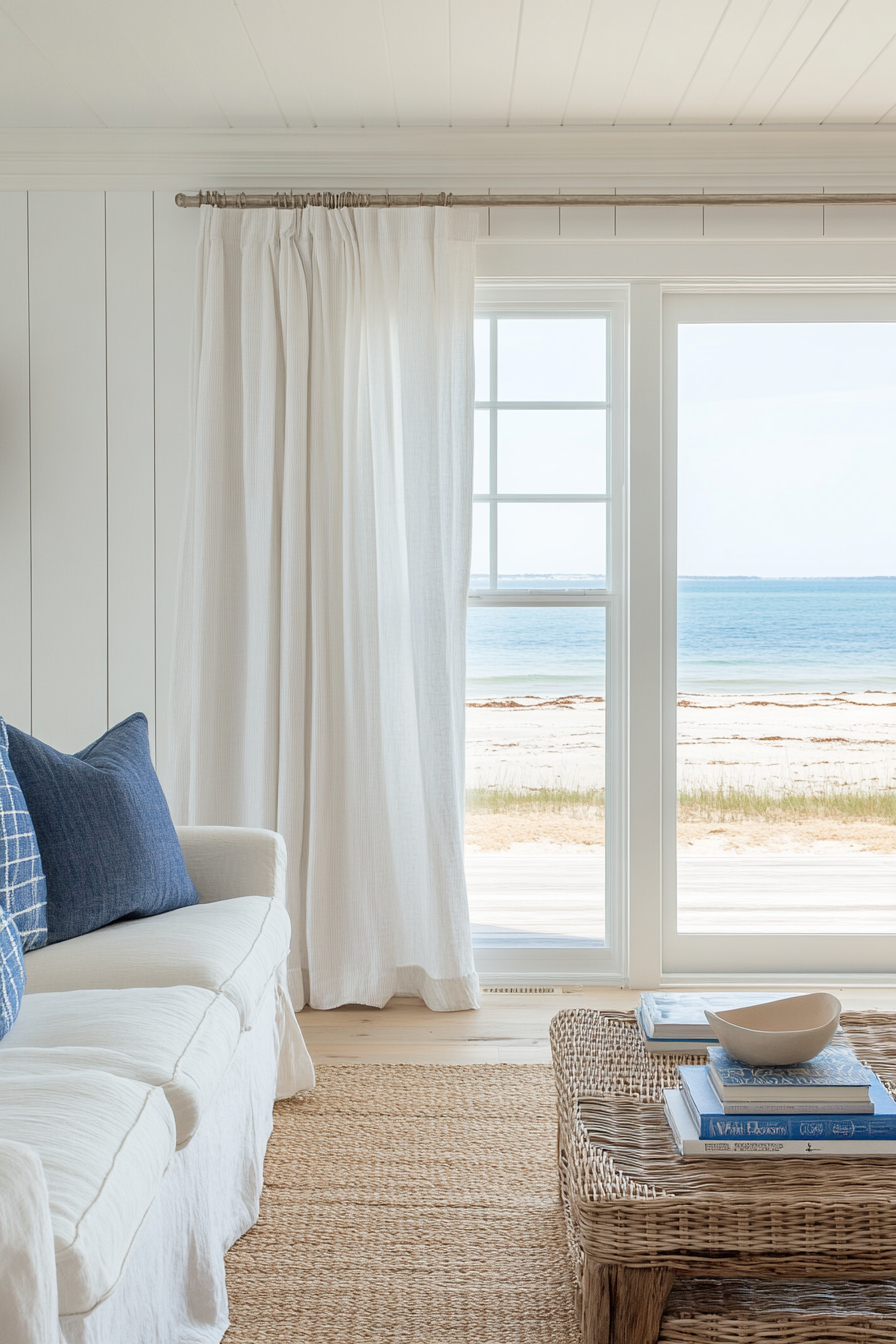
<path id="1" fill-rule="evenodd" d="M 189 453 L 189 341 L 199 211 L 154 194 L 156 269 L 156 763 L 168 782 L 168 703 L 177 555 Z M 177 818 L 175 818 L 177 820 Z"/>

